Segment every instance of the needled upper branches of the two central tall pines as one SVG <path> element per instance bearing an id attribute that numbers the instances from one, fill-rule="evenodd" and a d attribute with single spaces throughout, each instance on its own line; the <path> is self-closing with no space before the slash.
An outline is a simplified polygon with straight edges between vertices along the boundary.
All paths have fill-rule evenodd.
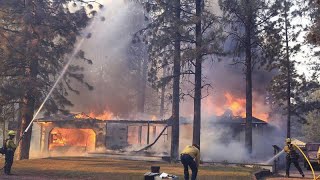
<path id="1" fill-rule="evenodd" d="M 181 41 L 181 75 L 194 74 L 193 65 L 197 55 L 195 48 L 195 2 L 181 0 L 180 7 L 175 7 L 172 0 L 152 0 L 143 3 L 147 12 L 147 26 L 139 31 L 133 42 L 144 42 L 148 46 L 148 55 L 151 67 L 148 72 L 148 80 L 154 88 L 160 88 L 170 83 L 173 79 L 172 64 L 174 57 L 174 42 Z M 207 1 L 205 1 L 205 4 Z M 181 10 L 180 18 L 176 18 L 176 8 Z M 201 56 L 222 55 L 222 26 L 218 17 L 213 14 L 207 6 L 204 7 L 202 16 L 202 48 Z M 162 72 L 166 69 L 166 76 Z"/>

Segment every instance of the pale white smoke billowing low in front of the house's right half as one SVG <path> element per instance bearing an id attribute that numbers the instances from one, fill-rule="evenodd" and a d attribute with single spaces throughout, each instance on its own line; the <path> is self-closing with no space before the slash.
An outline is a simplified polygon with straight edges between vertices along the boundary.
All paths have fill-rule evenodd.
<path id="1" fill-rule="evenodd" d="M 284 134 L 272 125 L 253 128 L 253 153 L 244 145 L 244 131 L 235 136 L 228 124 L 205 119 L 201 128 L 201 159 L 205 162 L 262 163 L 273 157 L 273 145 L 282 147 Z M 180 126 L 180 151 L 192 143 L 192 124 Z"/>

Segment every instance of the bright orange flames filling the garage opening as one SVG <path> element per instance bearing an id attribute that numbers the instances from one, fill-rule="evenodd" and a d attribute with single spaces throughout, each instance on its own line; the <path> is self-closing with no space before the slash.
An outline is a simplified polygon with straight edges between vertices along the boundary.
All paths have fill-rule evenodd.
<path id="1" fill-rule="evenodd" d="M 54 128 L 49 137 L 49 150 L 59 147 L 79 147 L 85 151 L 95 149 L 96 135 L 92 129 Z"/>

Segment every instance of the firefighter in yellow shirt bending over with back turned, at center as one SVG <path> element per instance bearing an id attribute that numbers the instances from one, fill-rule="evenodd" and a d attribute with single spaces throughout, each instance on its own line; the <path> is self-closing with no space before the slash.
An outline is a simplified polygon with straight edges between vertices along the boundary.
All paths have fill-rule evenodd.
<path id="1" fill-rule="evenodd" d="M 197 144 L 187 146 L 183 149 L 180 155 L 181 163 L 184 167 L 184 179 L 189 180 L 189 168 L 192 171 L 191 180 L 195 180 L 198 174 L 200 163 L 200 147 Z"/>

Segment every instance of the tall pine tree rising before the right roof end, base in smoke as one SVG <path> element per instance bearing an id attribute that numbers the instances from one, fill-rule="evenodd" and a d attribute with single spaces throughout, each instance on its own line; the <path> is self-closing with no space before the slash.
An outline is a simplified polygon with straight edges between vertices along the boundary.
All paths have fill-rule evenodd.
<path id="1" fill-rule="evenodd" d="M 219 0 L 235 63 L 244 65 L 246 76 L 245 145 L 252 152 L 252 70 L 264 59 L 264 31 L 272 28 L 269 21 L 276 6 L 266 0 Z"/>

